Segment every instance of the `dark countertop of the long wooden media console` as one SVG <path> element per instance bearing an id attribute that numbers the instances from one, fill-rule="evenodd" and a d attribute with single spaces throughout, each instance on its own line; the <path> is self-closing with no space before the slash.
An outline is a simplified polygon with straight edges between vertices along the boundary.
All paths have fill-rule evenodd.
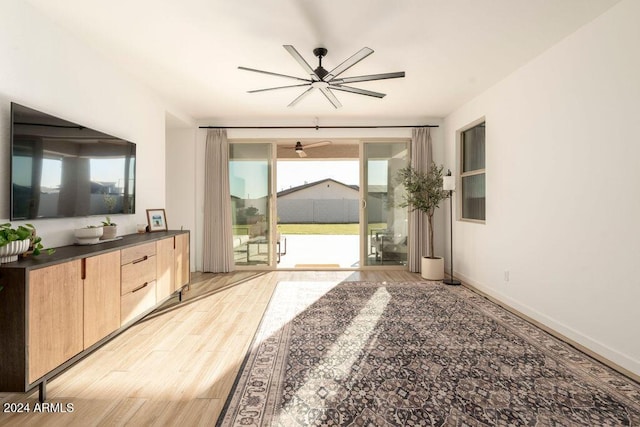
<path id="1" fill-rule="evenodd" d="M 60 264 L 62 262 L 72 261 L 74 259 L 87 258 L 114 250 L 125 249 L 127 247 L 139 245 L 141 243 L 155 242 L 157 240 L 162 240 L 168 237 L 188 232 L 189 231 L 187 230 L 169 230 L 155 231 L 152 233 L 127 234 L 125 236 L 122 236 L 122 239 L 97 243 L 95 245 L 61 246 L 59 248 L 55 248 L 55 253 L 51 255 L 47 254 L 46 250 L 43 250 L 42 253 L 38 256 L 29 255 L 19 258 L 16 262 L 0 264 L 0 269 L 20 268 L 31 270 L 35 268 L 47 267 L 54 264 Z"/>

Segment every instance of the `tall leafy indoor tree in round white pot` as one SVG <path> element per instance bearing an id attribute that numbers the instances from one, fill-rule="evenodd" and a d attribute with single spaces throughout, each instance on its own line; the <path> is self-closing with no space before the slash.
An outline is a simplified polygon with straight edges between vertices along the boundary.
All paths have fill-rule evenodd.
<path id="1" fill-rule="evenodd" d="M 440 202 L 449 198 L 449 192 L 442 188 L 442 169 L 442 165 L 438 166 L 432 162 L 426 172 L 418 171 L 411 166 L 398 171 L 398 180 L 405 189 L 404 199 L 399 206 L 409 207 L 427 215 L 429 245 L 427 256 L 423 257 L 422 277 L 433 280 L 444 278 L 444 259 L 436 257 L 433 250 L 433 214 Z M 425 269 L 429 272 L 425 272 Z"/>

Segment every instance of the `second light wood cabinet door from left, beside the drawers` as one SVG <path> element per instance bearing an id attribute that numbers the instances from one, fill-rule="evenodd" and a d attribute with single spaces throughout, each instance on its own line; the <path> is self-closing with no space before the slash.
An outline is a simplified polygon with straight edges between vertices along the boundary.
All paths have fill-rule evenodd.
<path id="1" fill-rule="evenodd" d="M 83 262 L 86 349 L 120 327 L 120 251 Z"/>

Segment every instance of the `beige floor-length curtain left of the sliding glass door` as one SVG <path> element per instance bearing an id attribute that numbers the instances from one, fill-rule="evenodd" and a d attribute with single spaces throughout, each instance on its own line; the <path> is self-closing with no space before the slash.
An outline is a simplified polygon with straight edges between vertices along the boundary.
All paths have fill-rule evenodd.
<path id="1" fill-rule="evenodd" d="M 205 146 L 203 270 L 233 270 L 229 143 L 225 129 L 210 129 Z"/>

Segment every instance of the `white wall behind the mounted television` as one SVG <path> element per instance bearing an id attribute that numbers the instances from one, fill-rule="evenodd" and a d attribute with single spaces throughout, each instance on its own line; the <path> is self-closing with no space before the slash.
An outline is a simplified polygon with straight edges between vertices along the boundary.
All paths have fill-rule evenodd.
<path id="1" fill-rule="evenodd" d="M 147 208 L 165 206 L 164 107 L 82 41 L 26 2 L 0 13 L 0 221 L 9 218 L 10 102 L 128 139 L 137 144 L 136 214 L 114 216 L 119 234 L 146 223 Z M 73 242 L 74 228 L 102 217 L 32 221 L 46 246 Z"/>

